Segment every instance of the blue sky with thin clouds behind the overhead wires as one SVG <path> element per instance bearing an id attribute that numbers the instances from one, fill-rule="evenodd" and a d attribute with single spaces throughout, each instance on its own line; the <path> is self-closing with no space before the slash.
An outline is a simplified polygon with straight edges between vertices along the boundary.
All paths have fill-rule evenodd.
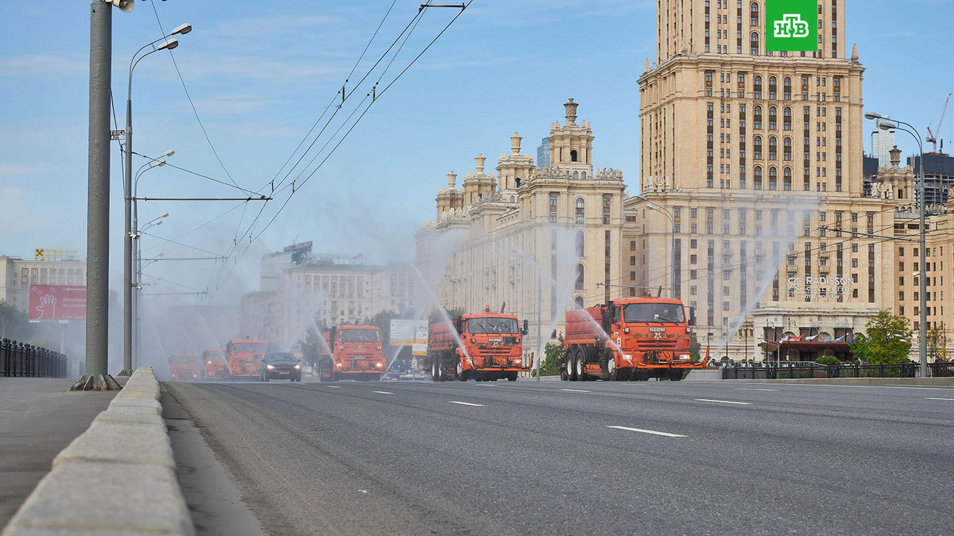
<path id="1" fill-rule="evenodd" d="M 132 13 L 114 13 L 113 82 L 120 123 L 129 58 L 160 35 L 154 1 L 167 31 L 182 22 L 195 27 L 180 37 L 176 61 L 225 168 L 240 185 L 253 189 L 279 172 L 341 87 L 391 4 L 317 1 L 279 8 L 278 3 L 250 0 L 139 0 Z M 420 3 L 396 2 L 356 78 Z M 858 43 L 867 69 L 865 108 L 905 118 L 922 129 L 936 125 L 944 96 L 954 91 L 949 52 L 954 2 L 849 0 L 847 11 L 848 43 Z M 384 83 L 454 13 L 429 10 Z M 414 227 L 433 217 L 433 198 L 446 184 L 447 171 L 456 170 L 462 179 L 478 152 L 488 157 L 488 168 L 495 167 L 514 131 L 535 155 L 550 123 L 562 119 L 561 105 L 570 96 L 580 103 L 580 117 L 592 123 L 595 164 L 620 168 L 627 182 L 635 184 L 635 80 L 654 50 L 653 21 L 654 2 L 645 0 L 475 0 L 371 107 L 249 248 L 251 264 L 243 260 L 247 270 L 239 269 L 244 282 L 236 290 L 253 284 L 261 253 L 296 237 L 313 239 L 318 251 L 366 252 L 379 260 L 413 258 Z M 79 249 L 85 257 L 88 50 L 87 2 L 0 5 L 0 253 L 28 256 L 33 247 L 46 246 Z M 352 102 L 339 119 L 350 113 Z M 157 155 L 174 148 L 170 162 L 228 180 L 199 129 L 168 53 L 157 52 L 137 67 L 134 109 L 137 152 Z M 954 143 L 954 117 L 945 123 L 942 137 Z M 902 149 L 911 148 L 912 143 L 899 139 Z M 115 146 L 112 158 L 112 258 L 118 275 L 122 194 Z M 141 194 L 148 196 L 239 194 L 168 167 L 146 176 Z M 258 234 L 285 196 L 269 203 L 253 233 Z M 150 202 L 140 205 L 140 212 L 143 219 L 170 212 L 156 235 L 176 237 L 233 206 L 237 204 Z M 180 241 L 228 253 L 239 222 L 244 230 L 259 207 L 239 207 Z M 159 243 L 146 239 L 152 240 L 150 245 Z M 161 251 L 178 255 L 190 250 L 170 245 L 152 250 Z M 194 265 L 184 272 L 178 274 L 184 278 L 180 280 L 196 286 L 208 276 L 207 267 Z"/>

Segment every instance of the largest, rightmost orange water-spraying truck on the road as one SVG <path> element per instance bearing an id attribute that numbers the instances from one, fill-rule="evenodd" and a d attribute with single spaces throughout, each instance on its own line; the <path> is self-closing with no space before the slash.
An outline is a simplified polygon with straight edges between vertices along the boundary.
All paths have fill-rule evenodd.
<path id="1" fill-rule="evenodd" d="M 624 298 L 567 311 L 562 379 L 569 381 L 682 380 L 702 368 L 689 356 L 695 316 L 678 299 Z"/>

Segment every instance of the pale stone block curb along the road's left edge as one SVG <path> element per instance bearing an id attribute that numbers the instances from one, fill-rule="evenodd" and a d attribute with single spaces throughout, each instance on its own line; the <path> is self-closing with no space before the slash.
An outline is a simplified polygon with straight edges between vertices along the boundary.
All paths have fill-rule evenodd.
<path id="1" fill-rule="evenodd" d="M 158 401 L 153 368 L 139 367 L 106 411 L 56 455 L 2 536 L 193 536 Z"/>

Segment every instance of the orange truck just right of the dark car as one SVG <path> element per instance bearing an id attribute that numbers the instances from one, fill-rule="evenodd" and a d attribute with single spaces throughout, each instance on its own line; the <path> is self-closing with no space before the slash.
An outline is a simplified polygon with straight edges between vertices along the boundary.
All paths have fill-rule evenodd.
<path id="1" fill-rule="evenodd" d="M 380 380 L 384 374 L 381 330 L 372 325 L 340 325 L 322 334 L 319 380 Z M 331 355 L 328 355 L 328 349 Z M 330 370 L 328 370 L 330 368 Z"/>

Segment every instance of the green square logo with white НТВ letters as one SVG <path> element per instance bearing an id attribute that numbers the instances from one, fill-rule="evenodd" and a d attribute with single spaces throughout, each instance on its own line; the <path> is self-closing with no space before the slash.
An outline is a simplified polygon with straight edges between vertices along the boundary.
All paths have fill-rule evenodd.
<path id="1" fill-rule="evenodd" d="M 765 50 L 818 50 L 818 7 L 817 0 L 765 0 Z"/>

